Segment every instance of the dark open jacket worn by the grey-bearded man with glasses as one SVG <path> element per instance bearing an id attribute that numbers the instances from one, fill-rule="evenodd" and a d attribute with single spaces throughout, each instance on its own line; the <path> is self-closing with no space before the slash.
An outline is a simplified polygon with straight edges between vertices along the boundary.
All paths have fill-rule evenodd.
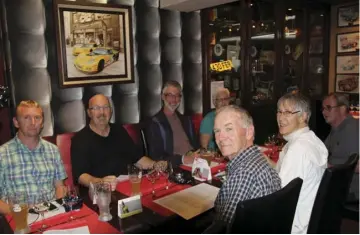
<path id="1" fill-rule="evenodd" d="M 179 112 L 176 112 L 176 114 L 189 138 L 191 146 L 193 146 L 194 149 L 198 149 L 198 137 L 195 134 L 191 118 L 184 116 Z M 155 116 L 147 122 L 145 135 L 149 157 L 151 157 L 151 159 L 155 161 L 169 160 L 175 167 L 182 163 L 182 156 L 174 154 L 173 132 L 163 110 L 160 110 L 160 112 L 155 114 Z"/>

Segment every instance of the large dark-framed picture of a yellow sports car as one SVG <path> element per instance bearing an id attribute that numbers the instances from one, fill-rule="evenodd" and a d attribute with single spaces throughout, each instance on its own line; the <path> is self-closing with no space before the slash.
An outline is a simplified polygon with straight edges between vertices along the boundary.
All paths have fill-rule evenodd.
<path id="1" fill-rule="evenodd" d="M 61 88 L 134 82 L 130 6 L 54 3 Z"/>

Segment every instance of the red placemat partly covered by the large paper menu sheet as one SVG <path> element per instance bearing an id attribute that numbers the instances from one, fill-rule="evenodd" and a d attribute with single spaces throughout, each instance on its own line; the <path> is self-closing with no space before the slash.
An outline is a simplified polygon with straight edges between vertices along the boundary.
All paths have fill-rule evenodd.
<path id="1" fill-rule="evenodd" d="M 170 216 L 170 215 L 173 215 L 174 212 L 160 206 L 159 204 L 155 203 L 154 200 L 165 197 L 165 196 L 173 194 L 173 193 L 176 193 L 183 189 L 190 188 L 190 187 L 191 187 L 191 185 L 188 185 L 188 184 L 185 184 L 185 185 L 172 184 L 172 185 L 170 185 L 169 189 L 163 189 L 159 192 L 155 191 L 155 195 L 156 195 L 155 199 L 152 198 L 152 194 L 148 194 L 146 196 L 141 197 L 141 203 L 144 206 L 146 206 L 147 208 L 155 211 L 156 213 L 158 213 L 162 216 Z"/>

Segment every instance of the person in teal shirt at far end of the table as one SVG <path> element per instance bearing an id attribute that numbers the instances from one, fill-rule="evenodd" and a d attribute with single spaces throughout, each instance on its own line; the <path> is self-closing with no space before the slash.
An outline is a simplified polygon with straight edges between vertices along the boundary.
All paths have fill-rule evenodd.
<path id="1" fill-rule="evenodd" d="M 200 125 L 200 145 L 205 149 L 216 149 L 215 138 L 214 138 L 214 120 L 216 110 L 221 107 L 229 105 L 230 103 L 230 92 L 226 88 L 219 88 L 213 95 L 213 103 L 215 110 L 206 114 Z"/>

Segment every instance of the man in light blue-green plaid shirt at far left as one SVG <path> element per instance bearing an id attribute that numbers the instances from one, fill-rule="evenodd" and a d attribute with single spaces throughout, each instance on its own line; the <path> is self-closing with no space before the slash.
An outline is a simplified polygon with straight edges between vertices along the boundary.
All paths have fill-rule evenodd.
<path id="1" fill-rule="evenodd" d="M 67 175 L 57 146 L 40 138 L 44 113 L 38 103 L 22 101 L 16 108 L 16 136 L 0 147 L 0 213 L 10 213 L 8 196 L 64 196 Z"/>

